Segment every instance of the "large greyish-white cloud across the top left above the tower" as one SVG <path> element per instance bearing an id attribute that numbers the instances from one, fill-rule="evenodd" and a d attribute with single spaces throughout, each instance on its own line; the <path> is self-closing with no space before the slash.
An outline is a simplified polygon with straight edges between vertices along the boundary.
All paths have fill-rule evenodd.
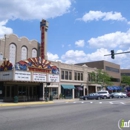
<path id="1" fill-rule="evenodd" d="M 71 0 L 0 0 L 0 21 L 6 19 L 48 19 L 69 11 Z"/>

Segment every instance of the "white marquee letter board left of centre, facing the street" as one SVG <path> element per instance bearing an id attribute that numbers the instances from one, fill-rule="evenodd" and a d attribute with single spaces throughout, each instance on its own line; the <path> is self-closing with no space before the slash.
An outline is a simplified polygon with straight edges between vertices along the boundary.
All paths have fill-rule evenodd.
<path id="1" fill-rule="evenodd" d="M 14 80 L 31 81 L 31 72 L 15 71 Z"/>

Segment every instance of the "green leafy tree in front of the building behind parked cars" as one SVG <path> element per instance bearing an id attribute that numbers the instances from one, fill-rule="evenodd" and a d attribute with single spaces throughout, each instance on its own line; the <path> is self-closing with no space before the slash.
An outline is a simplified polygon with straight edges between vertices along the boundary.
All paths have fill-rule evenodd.
<path id="1" fill-rule="evenodd" d="M 102 70 L 97 70 L 96 72 L 91 72 L 91 80 L 94 83 L 101 84 L 103 87 L 107 85 L 112 85 L 111 77 Z"/>

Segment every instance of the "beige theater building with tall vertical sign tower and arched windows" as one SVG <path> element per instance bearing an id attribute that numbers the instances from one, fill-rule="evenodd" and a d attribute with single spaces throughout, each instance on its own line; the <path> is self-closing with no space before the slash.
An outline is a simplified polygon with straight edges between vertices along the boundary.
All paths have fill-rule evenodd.
<path id="1" fill-rule="evenodd" d="M 73 65 L 47 59 L 48 22 L 40 23 L 41 43 L 19 38 L 15 34 L 0 39 L 0 99 L 19 101 L 74 99 L 96 92 L 100 84 L 88 82 L 88 74 L 96 71 L 85 64 Z"/>

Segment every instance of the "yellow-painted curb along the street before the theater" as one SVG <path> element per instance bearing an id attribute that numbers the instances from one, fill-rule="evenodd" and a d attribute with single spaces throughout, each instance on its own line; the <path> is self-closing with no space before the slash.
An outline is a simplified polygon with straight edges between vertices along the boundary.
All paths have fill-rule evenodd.
<path id="1" fill-rule="evenodd" d="M 10 106 L 28 106 L 28 105 L 40 105 L 40 104 L 53 104 L 54 102 L 28 102 L 28 103 L 3 103 L 0 107 L 10 107 Z"/>

